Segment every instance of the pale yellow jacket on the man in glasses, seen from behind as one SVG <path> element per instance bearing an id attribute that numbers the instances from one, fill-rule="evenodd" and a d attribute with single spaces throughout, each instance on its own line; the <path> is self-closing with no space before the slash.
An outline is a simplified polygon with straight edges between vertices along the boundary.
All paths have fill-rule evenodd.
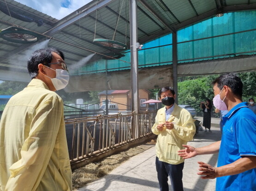
<path id="1" fill-rule="evenodd" d="M 63 101 L 32 79 L 1 117 L 0 191 L 71 190 Z"/>

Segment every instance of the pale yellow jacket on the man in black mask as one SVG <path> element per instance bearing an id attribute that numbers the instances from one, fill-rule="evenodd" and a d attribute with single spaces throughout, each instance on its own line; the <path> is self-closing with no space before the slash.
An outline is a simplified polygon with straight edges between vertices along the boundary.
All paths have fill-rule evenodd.
<path id="1" fill-rule="evenodd" d="M 159 131 L 157 125 L 165 121 L 175 123 L 173 129 L 165 128 Z M 158 135 L 155 150 L 159 160 L 169 164 L 180 164 L 184 159 L 178 155 L 178 151 L 183 149 L 182 145 L 193 139 L 196 127 L 190 112 L 174 103 L 173 112 L 167 120 L 166 107 L 157 111 L 152 132 Z"/>

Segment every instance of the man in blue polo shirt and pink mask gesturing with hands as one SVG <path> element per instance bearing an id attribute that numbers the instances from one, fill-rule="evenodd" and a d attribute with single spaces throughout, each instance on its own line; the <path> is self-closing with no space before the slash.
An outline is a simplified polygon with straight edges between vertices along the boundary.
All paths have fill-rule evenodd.
<path id="1" fill-rule="evenodd" d="M 216 191 L 256 191 L 256 115 L 242 102 L 243 83 L 236 75 L 223 74 L 213 84 L 214 106 L 228 110 L 221 141 L 201 148 L 183 145 L 179 156 L 219 152 L 217 167 L 198 162 L 197 174 L 204 175 L 202 179 L 217 178 Z"/>

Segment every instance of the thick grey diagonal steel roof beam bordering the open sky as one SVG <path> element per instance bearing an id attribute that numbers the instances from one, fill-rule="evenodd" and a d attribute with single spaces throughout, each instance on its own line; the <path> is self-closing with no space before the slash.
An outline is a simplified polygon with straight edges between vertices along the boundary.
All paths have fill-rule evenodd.
<path id="1" fill-rule="evenodd" d="M 48 30 L 46 33 L 49 36 L 51 36 L 52 34 L 58 33 L 61 30 L 63 30 L 64 28 L 74 24 L 75 22 L 79 21 L 79 19 L 82 19 L 84 17 L 89 16 L 91 13 L 95 12 L 97 9 L 101 9 L 102 7 L 107 6 L 108 4 L 110 4 L 111 2 L 113 2 L 114 0 L 101 0 L 100 2 L 97 2 L 95 5 L 90 6 L 86 9 L 84 9 L 83 11 L 79 12 L 75 17 L 71 17 L 70 19 L 68 19 L 67 21 L 57 25 L 56 27 Z"/>

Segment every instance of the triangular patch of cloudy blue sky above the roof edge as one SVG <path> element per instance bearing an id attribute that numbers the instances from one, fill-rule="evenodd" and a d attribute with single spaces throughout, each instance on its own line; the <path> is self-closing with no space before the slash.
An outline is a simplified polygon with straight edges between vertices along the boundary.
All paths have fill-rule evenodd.
<path id="1" fill-rule="evenodd" d="M 62 19 L 92 0 L 16 0 L 56 19 Z"/>

